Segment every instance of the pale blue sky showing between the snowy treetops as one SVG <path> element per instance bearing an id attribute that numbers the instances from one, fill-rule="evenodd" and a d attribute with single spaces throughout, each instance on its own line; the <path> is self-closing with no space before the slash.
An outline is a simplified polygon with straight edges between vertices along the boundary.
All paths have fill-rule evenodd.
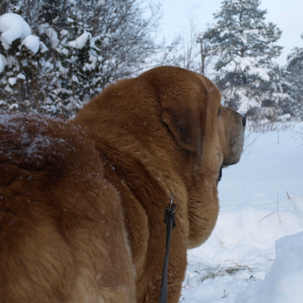
<path id="1" fill-rule="evenodd" d="M 156 1 L 156 0 L 155 0 Z M 214 23 L 213 13 L 221 7 L 221 0 L 160 0 L 163 19 L 161 29 L 167 41 L 189 28 L 189 19 L 197 25 L 198 32 Z M 261 0 L 260 8 L 266 9 L 266 22 L 273 22 L 282 30 L 278 45 L 284 46 L 279 59 L 286 63 L 286 57 L 295 46 L 303 47 L 300 35 L 303 33 L 303 0 Z"/>

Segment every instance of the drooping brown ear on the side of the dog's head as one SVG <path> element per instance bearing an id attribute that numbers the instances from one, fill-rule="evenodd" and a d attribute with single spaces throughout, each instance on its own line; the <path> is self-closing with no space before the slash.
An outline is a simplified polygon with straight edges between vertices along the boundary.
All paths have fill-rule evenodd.
<path id="1" fill-rule="evenodd" d="M 166 89 L 161 93 L 160 102 L 162 121 L 182 148 L 194 152 L 201 166 L 208 104 L 206 89 L 196 83 L 190 83 L 190 87 Z"/>

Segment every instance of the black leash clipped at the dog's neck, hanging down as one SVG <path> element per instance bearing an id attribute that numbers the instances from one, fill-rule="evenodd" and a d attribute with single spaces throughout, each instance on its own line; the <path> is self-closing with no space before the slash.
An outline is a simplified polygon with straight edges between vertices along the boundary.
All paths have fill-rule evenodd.
<path id="1" fill-rule="evenodd" d="M 166 224 L 166 250 L 163 262 L 163 270 L 162 270 L 162 281 L 160 288 L 160 297 L 159 303 L 167 303 L 167 271 L 168 271 L 168 255 L 169 255 L 169 247 L 170 241 L 172 237 L 172 231 L 176 227 L 175 221 L 175 209 L 176 204 L 173 203 L 174 196 L 172 196 L 171 203 L 165 209 L 165 224 Z"/>

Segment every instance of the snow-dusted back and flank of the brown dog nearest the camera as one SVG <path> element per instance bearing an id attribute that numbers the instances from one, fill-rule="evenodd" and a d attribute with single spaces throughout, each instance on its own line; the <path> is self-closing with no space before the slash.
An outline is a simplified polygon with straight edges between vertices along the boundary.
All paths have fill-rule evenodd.
<path id="1" fill-rule="evenodd" d="M 87 136 L 0 115 L 0 302 L 132 302 L 120 198 Z"/>

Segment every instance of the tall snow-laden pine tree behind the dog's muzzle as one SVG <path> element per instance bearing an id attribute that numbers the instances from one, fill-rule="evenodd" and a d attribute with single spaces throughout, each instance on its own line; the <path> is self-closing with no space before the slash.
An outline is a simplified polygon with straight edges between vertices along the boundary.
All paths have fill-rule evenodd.
<path id="1" fill-rule="evenodd" d="M 223 102 L 246 115 L 274 103 L 269 74 L 282 49 L 274 44 L 281 31 L 265 23 L 267 12 L 259 5 L 258 0 L 224 0 L 217 23 L 204 34 L 218 58 L 216 82 Z"/>

